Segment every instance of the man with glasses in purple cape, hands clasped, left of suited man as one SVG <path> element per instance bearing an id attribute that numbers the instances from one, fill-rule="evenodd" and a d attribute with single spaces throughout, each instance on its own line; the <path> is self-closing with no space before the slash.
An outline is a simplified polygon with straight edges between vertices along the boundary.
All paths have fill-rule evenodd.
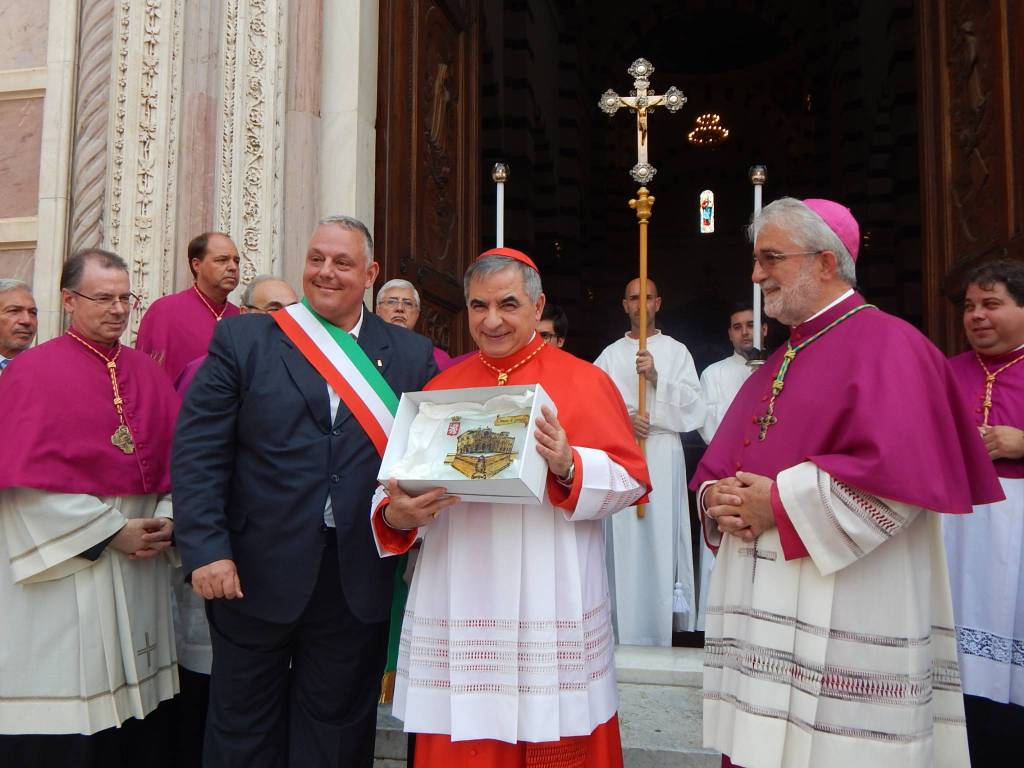
<path id="1" fill-rule="evenodd" d="M 157 708 L 178 690 L 178 398 L 119 341 L 135 303 L 121 258 L 72 256 L 60 297 L 68 332 L 0 379 L 0 765 L 159 766 L 170 731 Z"/>

